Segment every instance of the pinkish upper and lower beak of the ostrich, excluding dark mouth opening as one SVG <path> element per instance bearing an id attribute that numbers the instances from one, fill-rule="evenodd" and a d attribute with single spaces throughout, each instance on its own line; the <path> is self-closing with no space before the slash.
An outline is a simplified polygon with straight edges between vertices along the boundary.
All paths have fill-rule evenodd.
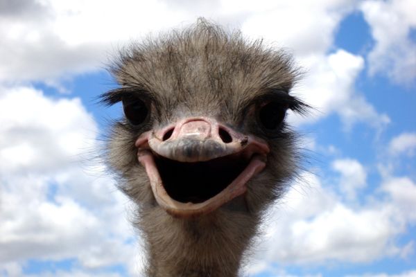
<path id="1" fill-rule="evenodd" d="M 135 145 L 139 162 L 146 168 L 157 203 L 168 213 L 180 217 L 209 213 L 243 195 L 247 190 L 245 184 L 263 170 L 270 152 L 262 139 L 241 134 L 212 118 L 203 117 L 184 118 L 173 125 L 141 134 Z M 159 157 L 184 163 L 185 166 L 206 161 L 215 163 L 221 159 L 244 159 L 247 166 L 213 197 L 198 203 L 180 202 L 166 192 L 164 176 L 160 174 L 163 170 L 158 169 L 155 163 Z M 178 186 L 180 181 L 175 180 Z M 195 183 L 198 184 L 198 181 Z"/>

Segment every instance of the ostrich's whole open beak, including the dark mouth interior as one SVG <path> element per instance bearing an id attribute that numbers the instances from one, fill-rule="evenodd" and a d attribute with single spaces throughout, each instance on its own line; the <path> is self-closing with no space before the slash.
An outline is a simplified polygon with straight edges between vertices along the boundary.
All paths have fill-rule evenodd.
<path id="1" fill-rule="evenodd" d="M 177 217 L 204 215 L 243 195 L 270 151 L 262 139 L 211 118 L 146 132 L 135 145 L 157 203 Z"/>

